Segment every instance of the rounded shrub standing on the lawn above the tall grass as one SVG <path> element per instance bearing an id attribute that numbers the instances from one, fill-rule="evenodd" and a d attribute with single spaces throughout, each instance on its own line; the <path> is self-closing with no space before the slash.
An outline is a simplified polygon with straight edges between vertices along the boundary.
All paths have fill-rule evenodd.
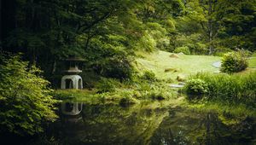
<path id="1" fill-rule="evenodd" d="M 246 55 L 241 51 L 229 52 L 222 58 L 220 71 L 223 73 L 237 73 L 245 70 L 248 66 Z"/>

